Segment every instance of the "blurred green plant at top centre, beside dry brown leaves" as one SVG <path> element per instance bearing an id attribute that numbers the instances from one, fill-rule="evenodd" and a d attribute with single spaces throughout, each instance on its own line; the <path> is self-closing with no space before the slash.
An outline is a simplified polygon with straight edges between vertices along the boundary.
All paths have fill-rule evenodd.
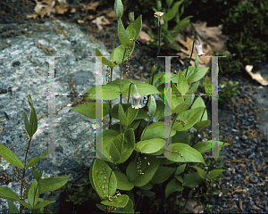
<path id="1" fill-rule="evenodd" d="M 163 11 L 163 24 L 155 24 L 156 28 L 159 30 L 158 38 L 161 37 L 163 42 L 163 47 L 164 48 L 172 48 L 177 51 L 180 51 L 180 48 L 176 45 L 170 45 L 171 42 L 173 42 L 174 37 L 177 37 L 180 32 L 182 32 L 186 26 L 188 25 L 189 19 L 192 18 L 193 16 L 188 16 L 182 20 L 180 20 L 182 13 L 184 12 L 184 6 L 182 5 L 181 9 L 180 4 L 183 1 L 176 2 L 172 5 L 173 0 L 166 0 L 165 1 L 168 8 L 165 9 L 162 7 L 162 3 L 160 0 L 156 1 L 156 8 L 153 8 L 153 10 L 156 12 Z M 169 21 L 173 22 L 173 27 L 170 29 L 171 26 L 169 26 Z M 157 22 L 157 19 L 156 19 Z M 176 23 L 176 24 L 174 24 Z M 159 26 L 163 26 L 162 30 L 159 28 Z M 157 45 L 157 37 L 153 34 L 153 32 L 148 31 L 148 34 L 150 37 L 152 37 L 155 41 L 154 42 L 147 42 L 147 45 L 151 47 L 156 47 Z M 161 35 L 160 35 L 161 34 Z"/>

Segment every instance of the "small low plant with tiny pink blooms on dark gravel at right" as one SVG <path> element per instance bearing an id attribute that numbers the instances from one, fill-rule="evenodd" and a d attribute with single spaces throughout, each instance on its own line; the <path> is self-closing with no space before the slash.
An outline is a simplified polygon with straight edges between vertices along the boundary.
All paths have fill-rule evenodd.
<path id="1" fill-rule="evenodd" d="M 232 84 L 232 82 L 222 81 L 219 89 L 219 103 L 223 104 L 226 101 L 232 101 L 234 95 L 239 94 L 239 82 Z"/>

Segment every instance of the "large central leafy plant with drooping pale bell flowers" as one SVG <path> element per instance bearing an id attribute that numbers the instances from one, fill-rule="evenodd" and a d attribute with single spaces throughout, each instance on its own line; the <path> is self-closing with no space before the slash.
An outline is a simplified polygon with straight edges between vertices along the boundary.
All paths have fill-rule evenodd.
<path id="1" fill-rule="evenodd" d="M 202 156 L 203 153 L 211 151 L 211 144 L 214 141 L 197 141 L 200 130 L 211 124 L 205 111 L 207 103 L 205 105 L 201 97 L 195 99 L 194 95 L 199 80 L 208 70 L 208 68 L 198 67 L 198 57 L 204 54 L 202 45 L 199 45 L 197 40 L 194 41 L 194 43 L 197 42 L 198 53 L 195 66 L 188 66 L 187 70 L 179 70 L 178 75 L 171 73 L 172 102 L 164 95 L 165 73 L 155 75 L 154 79 L 157 58 L 151 70 L 151 77 L 146 83 L 131 79 L 130 81 L 113 80 L 113 68 L 121 65 L 122 71 L 123 63 L 125 61 L 126 64 L 128 63 L 142 24 L 141 15 L 135 20 L 134 12 L 131 12 L 130 26 L 127 29 L 123 27 L 121 0 L 115 0 L 114 11 L 118 19 L 114 42 L 118 35 L 121 45 L 115 47 L 113 43 L 110 60 L 103 57 L 103 54 L 96 48 L 96 56 L 99 56 L 97 60 L 111 69 L 111 81 L 106 85 L 89 89 L 86 94 L 91 96 L 84 97 L 84 101 L 97 100 L 92 96 L 96 96 L 97 91 L 102 89 L 103 100 L 110 101 L 103 103 L 102 114 L 102 117 L 106 115 L 110 117 L 109 130 L 96 136 L 96 143 L 92 142 L 96 148 L 97 158 L 89 170 L 89 180 L 101 199 L 96 207 L 106 212 L 133 213 L 138 208 L 138 202 L 135 203 L 134 200 L 134 187 L 140 189 L 136 193 L 143 200 L 144 196 L 153 197 L 154 193 L 148 190 L 164 182 L 168 182 L 163 186 L 165 198 L 175 192 L 187 195 L 188 199 L 199 194 L 198 202 L 204 205 L 204 201 L 207 200 L 205 194 L 210 193 L 207 186 L 211 182 L 215 183 L 224 169 L 214 169 L 214 166 L 209 163 L 210 160 L 205 162 Z M 158 27 L 161 29 L 163 13 L 158 12 L 155 15 L 159 23 Z M 159 53 L 160 42 L 156 55 Z M 128 69 L 128 65 L 126 67 Z M 192 83 L 195 83 L 194 86 L 191 86 Z M 205 93 L 212 94 L 212 84 L 208 78 L 205 81 Z M 158 94 L 162 100 L 155 101 L 155 94 Z M 120 103 L 112 106 L 112 101 L 119 95 L 120 97 L 128 96 L 128 103 L 122 103 L 120 99 Z M 132 96 L 132 105 L 130 105 L 130 96 Z M 147 96 L 147 103 L 141 107 L 140 98 L 143 96 Z M 166 127 L 164 127 L 164 122 L 159 121 L 165 116 L 163 102 L 165 99 L 171 108 L 171 112 L 166 112 L 166 116 L 172 116 L 172 126 Z M 96 119 L 96 103 L 81 104 L 70 111 L 78 111 L 88 118 Z M 112 125 L 112 118 L 119 119 L 120 122 Z M 192 127 L 197 131 L 187 133 L 186 131 Z M 164 129 L 170 137 L 165 136 Z M 172 142 L 166 144 L 164 138 L 169 138 Z M 103 148 L 98 144 L 101 140 Z M 225 145 L 229 144 L 219 142 L 220 148 Z M 157 155 L 164 155 L 165 158 L 157 158 Z M 214 159 L 216 162 L 220 160 L 220 158 Z M 171 167 L 164 165 L 171 165 Z M 119 170 L 115 170 L 115 166 Z M 193 188 L 197 191 L 192 191 Z M 127 193 L 121 194 L 116 192 L 117 189 Z M 185 211 L 187 202 L 177 200 L 175 202 L 179 203 L 181 211 Z"/>

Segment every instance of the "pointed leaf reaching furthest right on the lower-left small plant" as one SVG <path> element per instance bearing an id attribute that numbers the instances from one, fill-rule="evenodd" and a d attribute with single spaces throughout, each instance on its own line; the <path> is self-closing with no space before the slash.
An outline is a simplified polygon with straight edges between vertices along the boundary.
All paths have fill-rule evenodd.
<path id="1" fill-rule="evenodd" d="M 39 180 L 39 194 L 52 192 L 69 181 L 70 177 L 47 177 Z"/>

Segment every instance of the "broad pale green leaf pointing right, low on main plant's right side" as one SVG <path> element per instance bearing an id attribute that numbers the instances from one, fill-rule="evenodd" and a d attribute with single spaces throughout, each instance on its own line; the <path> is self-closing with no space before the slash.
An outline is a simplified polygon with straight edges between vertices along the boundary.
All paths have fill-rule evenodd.
<path id="1" fill-rule="evenodd" d="M 172 156 L 179 156 L 179 158 L 168 158 L 170 161 L 174 162 L 202 162 L 205 164 L 203 156 L 196 149 L 192 148 L 188 144 L 172 143 L 168 146 L 169 150 L 180 152 L 172 153 Z M 181 156 L 182 155 L 182 156 Z"/>

